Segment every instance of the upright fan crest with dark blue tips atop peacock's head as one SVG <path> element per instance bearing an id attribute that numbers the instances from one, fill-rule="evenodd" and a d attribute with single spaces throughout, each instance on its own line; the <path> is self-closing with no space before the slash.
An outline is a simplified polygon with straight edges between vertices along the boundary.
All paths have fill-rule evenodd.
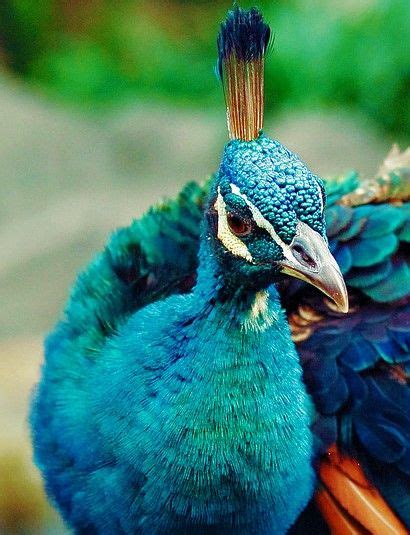
<path id="1" fill-rule="evenodd" d="M 250 141 L 263 127 L 263 72 L 271 31 L 261 13 L 235 6 L 218 35 L 222 81 L 231 139 Z"/>

